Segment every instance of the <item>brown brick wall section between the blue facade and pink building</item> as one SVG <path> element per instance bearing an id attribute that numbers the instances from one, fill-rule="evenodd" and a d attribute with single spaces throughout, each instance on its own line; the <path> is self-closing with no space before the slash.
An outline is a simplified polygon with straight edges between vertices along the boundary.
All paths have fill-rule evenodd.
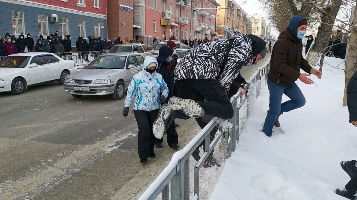
<path id="1" fill-rule="evenodd" d="M 107 2 L 108 39 L 113 40 L 121 37 L 124 41 L 125 37 L 128 37 L 129 40 L 132 40 L 134 38 L 134 12 L 121 10 L 120 4 L 134 9 L 132 0 L 111 0 Z"/>

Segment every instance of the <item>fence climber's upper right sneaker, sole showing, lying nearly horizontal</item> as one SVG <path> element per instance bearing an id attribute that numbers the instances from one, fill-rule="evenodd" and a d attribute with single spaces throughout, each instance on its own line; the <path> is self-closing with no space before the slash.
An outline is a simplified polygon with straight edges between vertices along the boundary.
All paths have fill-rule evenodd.
<path id="1" fill-rule="evenodd" d="M 169 99 L 169 107 L 171 110 L 182 111 L 189 117 L 202 117 L 205 110 L 196 101 L 191 99 L 181 99 L 177 96 L 172 96 Z"/>

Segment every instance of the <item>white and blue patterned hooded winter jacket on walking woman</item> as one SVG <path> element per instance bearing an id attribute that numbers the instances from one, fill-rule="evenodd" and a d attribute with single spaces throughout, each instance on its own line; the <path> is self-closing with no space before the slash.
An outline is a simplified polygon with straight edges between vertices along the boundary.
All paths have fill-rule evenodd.
<path id="1" fill-rule="evenodd" d="M 134 75 L 128 87 L 125 107 L 130 107 L 134 101 L 134 110 L 152 111 L 161 108 L 160 93 L 167 98 L 169 89 L 161 74 L 146 72 L 147 66 L 152 62 L 155 62 L 157 67 L 157 61 L 154 57 L 146 57 L 142 71 Z"/>

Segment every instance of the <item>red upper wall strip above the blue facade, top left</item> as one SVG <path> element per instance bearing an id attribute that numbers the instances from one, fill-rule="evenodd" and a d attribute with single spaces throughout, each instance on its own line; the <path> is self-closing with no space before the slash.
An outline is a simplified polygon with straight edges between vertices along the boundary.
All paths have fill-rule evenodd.
<path id="1" fill-rule="evenodd" d="M 32 1 L 40 4 L 52 5 L 52 6 L 59 6 L 62 8 L 69 8 L 83 12 L 91 12 L 95 14 L 105 15 L 105 1 L 106 0 L 99 0 L 99 9 L 93 7 L 93 0 L 85 0 L 84 3 L 86 7 L 77 6 L 77 1 L 75 0 L 67 0 L 68 2 L 60 1 L 60 0 L 26 0 Z"/>

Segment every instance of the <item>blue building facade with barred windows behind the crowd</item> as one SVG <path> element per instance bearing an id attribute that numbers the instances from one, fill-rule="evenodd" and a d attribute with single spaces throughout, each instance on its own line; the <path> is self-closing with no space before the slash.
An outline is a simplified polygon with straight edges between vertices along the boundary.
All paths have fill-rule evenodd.
<path id="1" fill-rule="evenodd" d="M 106 15 L 19 0 L 0 0 L 0 27 L 2 37 L 7 32 L 16 37 L 30 33 L 34 40 L 58 31 L 60 36 L 71 36 L 72 47 L 79 36 L 107 35 Z"/>

